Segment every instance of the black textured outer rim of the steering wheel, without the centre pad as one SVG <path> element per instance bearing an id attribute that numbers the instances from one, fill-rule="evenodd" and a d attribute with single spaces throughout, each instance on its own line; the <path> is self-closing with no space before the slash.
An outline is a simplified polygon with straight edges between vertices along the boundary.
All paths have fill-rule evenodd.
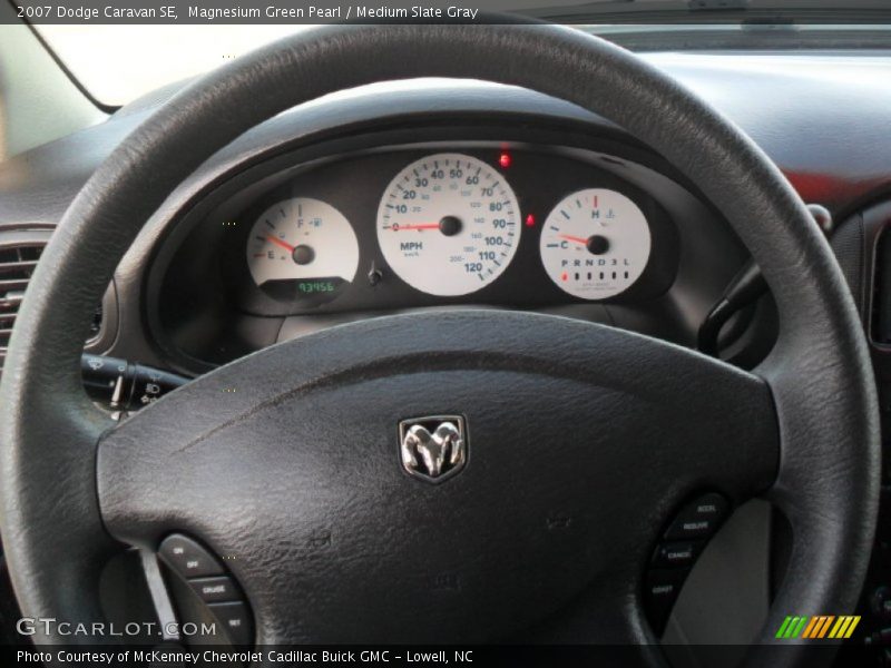
<path id="1" fill-rule="evenodd" d="M 828 244 L 783 175 L 730 121 L 627 51 L 552 26 L 307 31 L 189 86 L 102 164 L 35 273 L 0 387 L 2 536 L 22 611 L 100 618 L 98 572 L 115 549 L 96 483 L 95 444 L 107 423 L 82 393 L 79 357 L 92 305 L 145 220 L 215 150 L 275 114 L 344 88 L 423 76 L 523 86 L 605 116 L 726 216 L 781 314 L 777 345 L 757 372 L 782 439 L 766 497 L 795 542 L 761 640 L 787 613 L 850 611 L 875 528 L 879 426 L 865 340 Z M 62 551 L 69 558 L 59 564 Z M 638 639 L 648 638 L 639 629 Z M 750 660 L 760 660 L 756 651 Z M 789 665 L 799 660 L 783 654 Z"/>

